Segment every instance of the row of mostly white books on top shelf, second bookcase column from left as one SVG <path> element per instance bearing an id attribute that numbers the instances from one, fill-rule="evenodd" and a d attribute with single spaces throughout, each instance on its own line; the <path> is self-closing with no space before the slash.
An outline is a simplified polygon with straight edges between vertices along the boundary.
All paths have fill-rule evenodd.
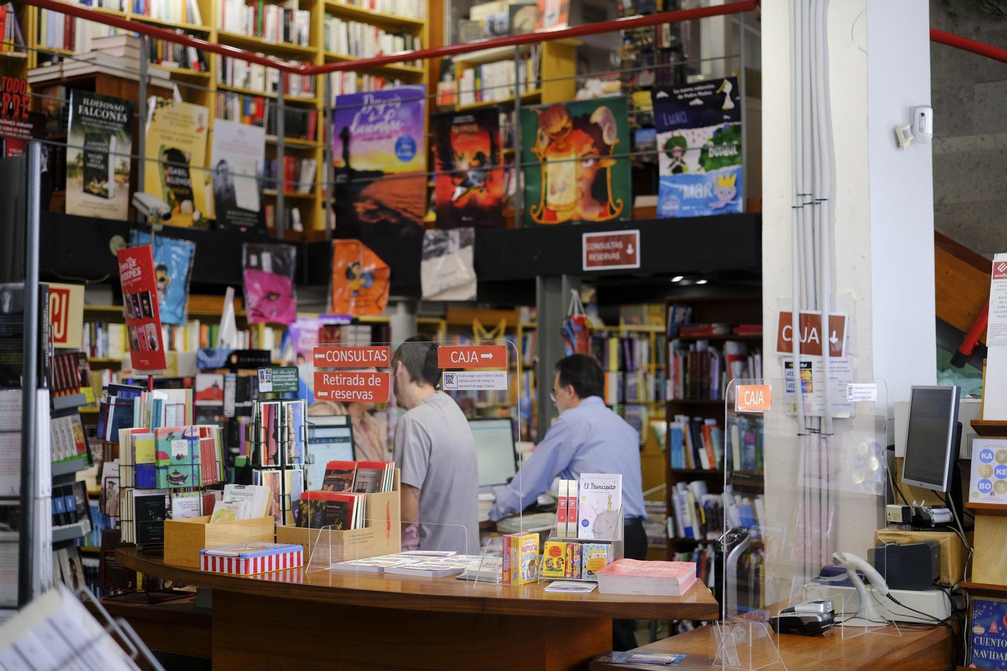
<path id="1" fill-rule="evenodd" d="M 272 4 L 258 0 L 222 0 L 218 25 L 221 30 L 264 42 L 308 46 L 311 34 L 311 12 L 298 9 L 297 0 Z"/>

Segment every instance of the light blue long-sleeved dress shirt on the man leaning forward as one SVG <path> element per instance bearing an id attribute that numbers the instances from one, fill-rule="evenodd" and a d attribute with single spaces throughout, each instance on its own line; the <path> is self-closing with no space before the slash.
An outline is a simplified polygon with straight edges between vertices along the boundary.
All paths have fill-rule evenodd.
<path id="1" fill-rule="evenodd" d="M 511 484 L 496 490 L 489 519 L 524 510 L 555 478 L 579 480 L 581 473 L 621 473 L 623 517 L 646 516 L 639 434 L 600 397 L 588 396 L 560 414 Z"/>

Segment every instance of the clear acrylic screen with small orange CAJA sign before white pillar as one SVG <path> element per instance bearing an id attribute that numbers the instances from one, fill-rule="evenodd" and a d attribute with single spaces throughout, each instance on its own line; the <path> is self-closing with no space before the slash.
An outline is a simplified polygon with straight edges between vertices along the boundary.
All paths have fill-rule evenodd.
<path id="1" fill-rule="evenodd" d="M 821 379 L 809 376 L 801 392 L 817 385 Z M 854 379 L 842 386 L 836 400 L 845 409 L 831 422 L 810 412 L 804 432 L 793 380 L 734 379 L 725 390 L 725 493 L 708 495 L 722 506 L 725 520 L 723 573 L 717 577 L 724 610 L 714 624 L 714 666 L 798 668 L 768 620 L 805 601 L 831 601 L 834 628 L 844 638 L 901 635 L 887 626 L 894 624 L 887 600 L 866 579 L 863 592 L 851 585 L 846 566 L 833 556 L 867 560 L 874 532 L 884 525 L 887 482 L 885 383 Z M 720 529 L 708 531 L 711 542 L 720 535 Z"/>

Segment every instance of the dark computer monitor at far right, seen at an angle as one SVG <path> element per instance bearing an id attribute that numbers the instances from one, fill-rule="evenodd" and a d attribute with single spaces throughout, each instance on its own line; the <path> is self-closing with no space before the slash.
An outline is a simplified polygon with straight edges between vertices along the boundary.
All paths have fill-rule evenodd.
<path id="1" fill-rule="evenodd" d="M 905 434 L 902 482 L 948 492 L 958 458 L 957 386 L 913 386 Z"/>

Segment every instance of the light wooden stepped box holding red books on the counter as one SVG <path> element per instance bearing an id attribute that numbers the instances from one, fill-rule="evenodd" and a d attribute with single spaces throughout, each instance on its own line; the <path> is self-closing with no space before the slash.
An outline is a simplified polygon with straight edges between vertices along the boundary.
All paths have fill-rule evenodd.
<path id="1" fill-rule="evenodd" d="M 311 561 L 315 545 L 320 551 L 329 548 L 328 557 L 315 557 L 315 563 L 363 559 L 402 551 L 402 506 L 400 473 L 395 470 L 391 492 L 368 494 L 367 526 L 348 531 L 306 529 L 293 525 L 276 528 L 276 542 L 304 546 L 304 565 Z"/>

